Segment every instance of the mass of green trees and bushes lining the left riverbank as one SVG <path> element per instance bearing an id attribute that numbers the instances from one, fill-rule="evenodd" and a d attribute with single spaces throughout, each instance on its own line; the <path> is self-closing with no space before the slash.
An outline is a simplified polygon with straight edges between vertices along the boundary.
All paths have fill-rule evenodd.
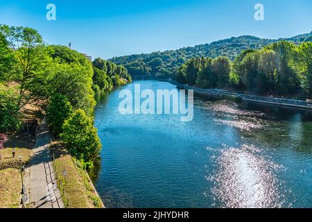
<path id="1" fill-rule="evenodd" d="M 101 150 L 94 96 L 130 81 L 122 65 L 47 45 L 33 28 L 0 25 L 0 133 L 19 130 L 21 110 L 36 104 L 55 136 L 88 167 Z"/>

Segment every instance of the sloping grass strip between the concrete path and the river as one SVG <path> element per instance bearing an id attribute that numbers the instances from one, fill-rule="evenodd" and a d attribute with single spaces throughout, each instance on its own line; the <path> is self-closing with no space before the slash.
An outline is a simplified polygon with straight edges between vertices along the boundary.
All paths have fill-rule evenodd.
<path id="1" fill-rule="evenodd" d="M 62 148 L 62 144 L 53 144 L 52 152 L 55 156 L 55 171 L 58 176 L 58 186 L 65 207 L 69 208 L 99 208 L 103 207 L 101 199 L 96 195 L 87 172 Z M 66 169 L 66 182 L 63 171 Z"/>

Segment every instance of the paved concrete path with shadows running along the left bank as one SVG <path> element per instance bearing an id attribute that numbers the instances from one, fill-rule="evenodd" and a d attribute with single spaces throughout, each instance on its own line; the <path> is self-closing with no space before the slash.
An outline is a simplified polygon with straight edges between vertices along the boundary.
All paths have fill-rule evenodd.
<path id="1" fill-rule="evenodd" d="M 25 182 L 30 207 L 64 208 L 57 185 L 53 160 L 49 149 L 49 127 L 43 121 L 38 126 L 37 142 L 33 148 L 33 158 L 26 167 Z M 55 186 L 53 186 L 53 183 Z M 53 189 L 54 188 L 54 189 Z"/>

